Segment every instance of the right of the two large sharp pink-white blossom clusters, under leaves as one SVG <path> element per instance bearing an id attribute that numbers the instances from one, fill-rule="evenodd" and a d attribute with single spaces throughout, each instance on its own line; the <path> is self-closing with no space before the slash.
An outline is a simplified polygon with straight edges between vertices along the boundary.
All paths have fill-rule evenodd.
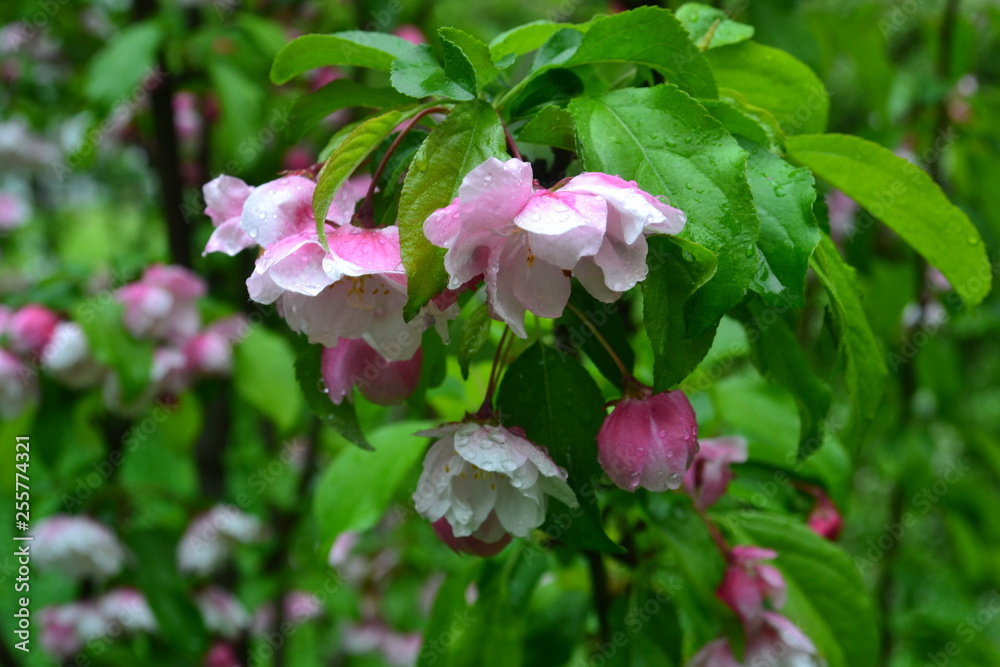
<path id="1" fill-rule="evenodd" d="M 677 234 L 684 213 L 617 176 L 584 173 L 539 188 L 531 165 L 490 158 L 432 213 L 424 234 L 446 248 L 449 287 L 483 276 L 493 316 L 526 336 L 524 316 L 559 317 L 572 274 L 595 298 L 615 301 L 646 277 L 646 235 Z"/>

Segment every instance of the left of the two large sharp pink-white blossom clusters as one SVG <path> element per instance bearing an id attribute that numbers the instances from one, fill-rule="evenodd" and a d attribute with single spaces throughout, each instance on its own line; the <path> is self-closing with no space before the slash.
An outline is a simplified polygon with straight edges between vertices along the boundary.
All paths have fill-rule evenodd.
<path id="1" fill-rule="evenodd" d="M 288 325 L 312 343 L 335 347 L 341 338 L 363 338 L 386 359 L 401 361 L 414 355 L 429 324 L 436 324 L 447 338 L 447 319 L 457 314 L 457 308 L 433 301 L 422 316 L 404 321 L 406 274 L 399 229 L 351 224 L 355 206 L 370 184 L 370 177 L 356 177 L 335 194 L 326 218 L 329 252 L 316 231 L 312 180 L 284 176 L 249 193 L 240 207 L 240 228 L 263 252 L 247 279 L 247 289 L 258 303 L 277 303 Z M 242 196 L 223 201 L 208 195 L 206 186 L 213 221 L 234 215 Z M 226 217 L 218 229 L 232 219 Z M 214 249 L 210 243 L 206 251 Z"/>

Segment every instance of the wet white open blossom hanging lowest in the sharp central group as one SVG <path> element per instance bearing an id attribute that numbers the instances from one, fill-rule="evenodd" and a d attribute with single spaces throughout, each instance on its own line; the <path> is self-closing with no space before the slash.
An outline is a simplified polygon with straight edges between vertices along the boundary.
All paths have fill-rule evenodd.
<path id="1" fill-rule="evenodd" d="M 445 424 L 417 435 L 441 438 L 424 459 L 417 512 L 431 522 L 445 518 L 455 537 L 527 537 L 545 521 L 547 496 L 577 506 L 566 471 L 502 426 Z"/>

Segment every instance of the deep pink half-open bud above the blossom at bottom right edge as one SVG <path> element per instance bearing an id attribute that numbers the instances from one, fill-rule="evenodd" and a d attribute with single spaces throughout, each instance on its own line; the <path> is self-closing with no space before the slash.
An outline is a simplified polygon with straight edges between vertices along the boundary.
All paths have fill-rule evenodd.
<path id="1" fill-rule="evenodd" d="M 761 561 L 777 558 L 770 549 L 736 546 L 730 553 L 730 564 L 719 586 L 719 598 L 743 621 L 748 634 L 760 626 L 764 602 L 774 609 L 785 606 L 785 579 L 772 565 Z"/>

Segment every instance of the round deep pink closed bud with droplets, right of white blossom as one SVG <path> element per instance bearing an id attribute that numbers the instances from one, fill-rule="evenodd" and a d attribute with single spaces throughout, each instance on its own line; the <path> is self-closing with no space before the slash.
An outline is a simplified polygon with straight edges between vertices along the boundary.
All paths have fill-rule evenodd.
<path id="1" fill-rule="evenodd" d="M 681 391 L 623 398 L 597 434 L 601 467 L 626 491 L 680 487 L 697 452 L 698 422 Z"/>

